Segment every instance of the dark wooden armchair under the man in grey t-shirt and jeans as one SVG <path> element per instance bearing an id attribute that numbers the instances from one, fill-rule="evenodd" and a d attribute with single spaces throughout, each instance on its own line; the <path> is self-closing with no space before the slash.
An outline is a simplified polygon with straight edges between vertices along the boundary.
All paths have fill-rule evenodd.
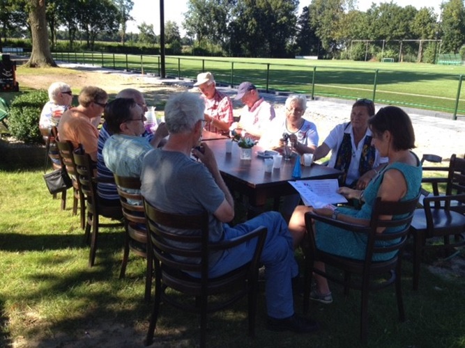
<path id="1" fill-rule="evenodd" d="M 148 326 L 146 345 L 151 345 L 157 324 L 160 302 L 169 303 L 181 310 L 200 314 L 200 347 L 206 345 L 206 315 L 226 308 L 243 296 L 248 296 L 249 334 L 254 335 L 257 307 L 258 268 L 264 246 L 266 228 L 212 244 L 208 242 L 208 214 L 180 215 L 162 212 L 144 200 L 147 229 L 153 250 L 155 269 L 155 302 Z M 167 229 L 197 230 L 198 234 L 177 234 Z M 208 278 L 208 254 L 226 251 L 239 244 L 257 238 L 252 260 L 243 267 L 218 278 Z M 190 276 L 195 272 L 199 277 Z M 185 303 L 180 296 L 166 292 L 170 287 L 177 292 L 192 296 L 194 303 Z M 208 296 L 228 294 L 221 303 L 208 303 Z M 226 295 L 224 295 L 226 296 Z M 181 296 L 185 297 L 185 296 Z"/>

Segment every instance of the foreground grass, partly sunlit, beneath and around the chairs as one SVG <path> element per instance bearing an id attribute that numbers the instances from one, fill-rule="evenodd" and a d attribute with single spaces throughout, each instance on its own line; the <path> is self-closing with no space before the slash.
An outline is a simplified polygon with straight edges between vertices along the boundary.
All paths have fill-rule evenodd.
<path id="1" fill-rule="evenodd" d="M 41 169 L 20 168 L 0 164 L 0 347 L 17 340 L 25 342 L 24 347 L 52 347 L 51 340 L 53 347 L 65 347 L 63 342 L 82 339 L 89 327 L 102 322 L 110 322 L 115 331 L 124 326 L 135 332 L 118 347 L 141 347 L 151 312 L 143 301 L 144 260 L 130 258 L 127 276 L 120 280 L 123 233 L 102 229 L 96 266 L 88 268 L 89 247 L 79 218 L 71 214 L 71 199 L 61 211 L 59 200 L 45 188 Z M 464 347 L 464 279 L 439 278 L 423 265 L 420 290 L 413 292 L 411 276 L 411 262 L 405 260 L 404 323 L 397 320 L 393 289 L 370 296 L 368 346 Z M 247 337 L 243 300 L 208 317 L 208 347 L 358 347 L 359 294 L 345 298 L 333 285 L 333 296 L 330 306 L 312 303 L 311 315 L 321 322 L 321 333 L 296 335 L 266 330 L 261 292 L 256 338 Z M 300 312 L 302 299 L 295 302 Z M 155 346 L 198 345 L 197 325 L 195 315 L 162 305 Z M 101 335 L 105 341 L 112 331 Z M 64 341 L 59 343 L 57 337 Z"/>

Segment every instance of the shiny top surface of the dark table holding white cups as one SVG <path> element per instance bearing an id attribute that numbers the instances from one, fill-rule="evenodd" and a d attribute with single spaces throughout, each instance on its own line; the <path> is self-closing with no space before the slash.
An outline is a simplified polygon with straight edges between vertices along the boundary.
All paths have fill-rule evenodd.
<path id="1" fill-rule="evenodd" d="M 236 143 L 232 145 L 231 153 L 226 153 L 226 143 L 230 139 L 208 141 L 207 145 L 215 154 L 218 168 L 223 176 L 234 178 L 252 188 L 273 187 L 284 182 L 293 180 L 292 172 L 297 156 L 293 156 L 289 161 L 282 159 L 281 168 L 273 169 L 272 173 L 265 172 L 265 163 L 262 157 L 257 155 L 262 151 L 259 146 L 252 148 L 252 159 L 241 159 L 241 148 Z M 312 164 L 310 167 L 300 166 L 301 179 L 330 179 L 340 175 L 340 171 L 319 164 Z"/>

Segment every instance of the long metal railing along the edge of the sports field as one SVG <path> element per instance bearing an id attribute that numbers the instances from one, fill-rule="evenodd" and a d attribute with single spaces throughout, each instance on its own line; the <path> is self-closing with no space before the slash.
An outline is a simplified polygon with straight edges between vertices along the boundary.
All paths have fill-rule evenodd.
<path id="1" fill-rule="evenodd" d="M 98 65 L 102 68 L 139 72 L 160 76 L 160 56 L 108 54 L 103 52 L 53 52 L 57 61 Z M 192 79 L 199 72 L 210 71 L 217 84 L 237 86 L 253 81 L 266 93 L 303 93 L 316 96 L 356 100 L 367 97 L 380 104 L 416 107 L 452 113 L 452 119 L 465 116 L 465 99 L 461 99 L 464 75 L 441 74 L 446 86 L 438 90 L 437 77 L 427 79 L 399 70 L 342 68 L 340 66 L 309 66 L 279 63 L 257 63 L 226 59 L 167 56 L 167 76 Z M 422 79 L 422 91 L 399 92 L 398 84 Z M 456 86 L 454 88 L 454 86 Z M 454 95 L 454 90 L 457 91 Z"/>

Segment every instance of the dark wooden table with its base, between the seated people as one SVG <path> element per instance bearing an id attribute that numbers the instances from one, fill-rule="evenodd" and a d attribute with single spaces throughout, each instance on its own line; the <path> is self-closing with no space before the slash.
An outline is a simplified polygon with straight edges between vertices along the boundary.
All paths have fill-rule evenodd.
<path id="1" fill-rule="evenodd" d="M 207 145 L 215 154 L 218 168 L 229 189 L 245 194 L 249 198 L 248 217 L 264 211 L 267 198 L 278 198 L 296 193 L 289 184 L 297 157 L 289 161 L 282 159 L 281 168 L 273 169 L 273 173 L 265 172 L 264 159 L 257 156 L 262 149 L 255 146 L 252 149 L 252 160 L 240 158 L 240 148 L 233 143 L 232 152 L 226 153 L 226 142 L 230 139 L 208 141 Z M 301 179 L 332 179 L 341 174 L 340 171 L 319 164 L 311 167 L 300 166 Z"/>

